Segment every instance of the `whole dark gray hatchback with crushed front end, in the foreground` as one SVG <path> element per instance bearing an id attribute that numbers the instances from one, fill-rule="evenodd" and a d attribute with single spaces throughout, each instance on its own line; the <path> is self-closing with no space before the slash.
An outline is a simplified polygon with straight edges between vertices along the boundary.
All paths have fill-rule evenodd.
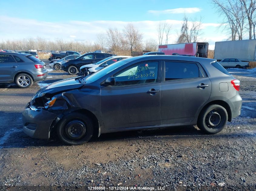
<path id="1" fill-rule="evenodd" d="M 89 77 L 40 89 L 23 112 L 23 131 L 69 145 L 95 133 L 197 125 L 220 132 L 241 114 L 240 81 L 216 60 L 189 56 L 136 56 Z"/>

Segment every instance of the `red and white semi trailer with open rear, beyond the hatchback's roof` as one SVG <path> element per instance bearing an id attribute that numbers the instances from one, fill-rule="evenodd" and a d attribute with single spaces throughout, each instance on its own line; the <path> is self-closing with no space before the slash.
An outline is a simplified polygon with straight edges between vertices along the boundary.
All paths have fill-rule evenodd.
<path id="1" fill-rule="evenodd" d="M 173 53 L 191 55 L 196 57 L 207 58 L 209 43 L 182 43 L 182 44 L 167 44 L 159 45 L 158 51 L 164 52 L 166 55 Z"/>

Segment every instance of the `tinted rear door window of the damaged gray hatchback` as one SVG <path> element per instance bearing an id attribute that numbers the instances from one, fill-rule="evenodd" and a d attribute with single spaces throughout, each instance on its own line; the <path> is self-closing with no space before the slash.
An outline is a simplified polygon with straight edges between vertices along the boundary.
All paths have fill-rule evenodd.
<path id="1" fill-rule="evenodd" d="M 165 62 L 165 81 L 203 77 L 195 63 Z"/>

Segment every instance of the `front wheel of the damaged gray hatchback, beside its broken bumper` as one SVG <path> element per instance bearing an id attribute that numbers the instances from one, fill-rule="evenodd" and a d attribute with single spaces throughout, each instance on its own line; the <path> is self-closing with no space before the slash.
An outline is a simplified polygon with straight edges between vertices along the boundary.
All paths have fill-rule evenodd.
<path id="1" fill-rule="evenodd" d="M 93 123 L 86 115 L 69 113 L 58 123 L 57 135 L 67 145 L 82 145 L 91 139 Z"/>

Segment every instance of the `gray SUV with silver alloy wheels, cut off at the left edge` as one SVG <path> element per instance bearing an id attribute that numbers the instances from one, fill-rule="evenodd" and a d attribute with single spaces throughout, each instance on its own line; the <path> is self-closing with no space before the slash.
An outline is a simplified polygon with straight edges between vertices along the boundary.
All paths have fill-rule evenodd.
<path id="1" fill-rule="evenodd" d="M 33 81 L 48 76 L 45 63 L 31 54 L 0 53 L 0 83 L 16 83 L 20 88 L 29 88 Z"/>

